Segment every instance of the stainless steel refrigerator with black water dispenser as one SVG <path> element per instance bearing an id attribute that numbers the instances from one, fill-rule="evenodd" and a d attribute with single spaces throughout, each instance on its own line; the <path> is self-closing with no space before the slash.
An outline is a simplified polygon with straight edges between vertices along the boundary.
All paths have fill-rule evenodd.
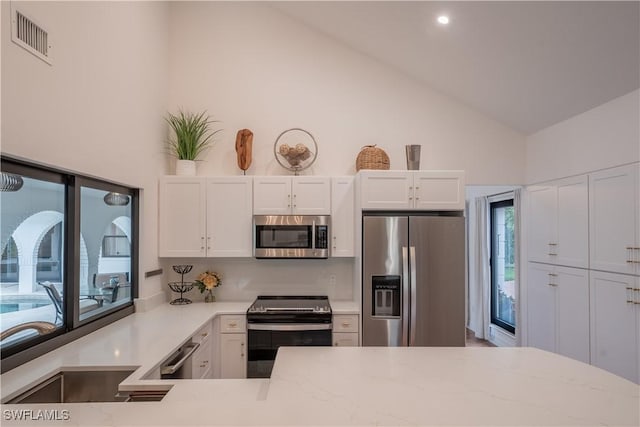
<path id="1" fill-rule="evenodd" d="M 362 221 L 363 345 L 464 346 L 462 212 Z"/>

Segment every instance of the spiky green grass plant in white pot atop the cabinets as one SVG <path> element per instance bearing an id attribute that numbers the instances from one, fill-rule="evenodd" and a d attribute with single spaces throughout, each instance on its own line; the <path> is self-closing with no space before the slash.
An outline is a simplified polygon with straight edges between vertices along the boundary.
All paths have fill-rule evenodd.
<path id="1" fill-rule="evenodd" d="M 213 144 L 213 137 L 221 129 L 212 130 L 211 120 L 206 112 L 199 114 L 184 112 L 169 113 L 165 118 L 173 135 L 167 141 L 169 152 L 176 157 L 176 175 L 195 175 L 195 161 Z"/>

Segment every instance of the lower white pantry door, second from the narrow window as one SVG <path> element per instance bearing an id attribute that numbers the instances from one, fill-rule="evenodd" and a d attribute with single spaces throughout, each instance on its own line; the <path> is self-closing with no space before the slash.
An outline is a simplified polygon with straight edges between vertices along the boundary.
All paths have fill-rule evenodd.
<path id="1" fill-rule="evenodd" d="M 589 363 L 589 272 L 581 268 L 557 267 L 555 274 L 555 351 Z"/>

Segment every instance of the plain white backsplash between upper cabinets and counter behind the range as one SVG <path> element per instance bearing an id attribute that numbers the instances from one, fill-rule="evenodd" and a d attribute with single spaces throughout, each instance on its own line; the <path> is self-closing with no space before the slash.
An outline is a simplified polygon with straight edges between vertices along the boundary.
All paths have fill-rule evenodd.
<path id="1" fill-rule="evenodd" d="M 163 263 L 163 282 L 169 299 L 172 293 L 166 283 L 179 281 L 180 275 L 172 265 L 190 264 L 193 269 L 185 275 L 185 281 L 193 281 L 205 270 L 216 271 L 223 276 L 222 286 L 214 290 L 218 301 L 252 301 L 258 295 L 328 295 L 334 301 L 354 300 L 353 258 L 277 259 L 253 258 L 170 259 Z M 196 288 L 185 294 L 193 301 L 204 297 Z"/>

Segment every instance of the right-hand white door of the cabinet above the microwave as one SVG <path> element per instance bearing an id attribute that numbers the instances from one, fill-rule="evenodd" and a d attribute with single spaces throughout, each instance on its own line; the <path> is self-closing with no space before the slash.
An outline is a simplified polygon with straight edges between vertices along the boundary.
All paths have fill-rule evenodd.
<path id="1" fill-rule="evenodd" d="M 297 215 L 331 214 L 331 179 L 296 176 L 292 178 L 292 213 Z"/>

